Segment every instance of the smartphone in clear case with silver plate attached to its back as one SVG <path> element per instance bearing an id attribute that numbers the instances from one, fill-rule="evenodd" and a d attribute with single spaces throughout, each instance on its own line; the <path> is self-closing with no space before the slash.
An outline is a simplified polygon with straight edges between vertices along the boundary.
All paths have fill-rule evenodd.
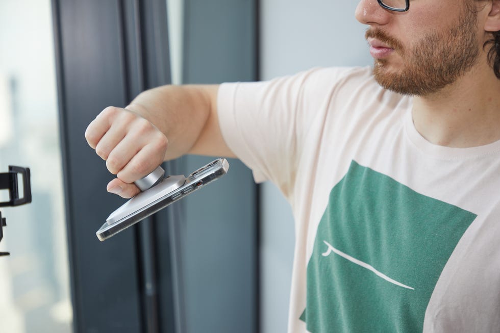
<path id="1" fill-rule="evenodd" d="M 116 235 L 172 202 L 219 179 L 228 172 L 228 169 L 229 163 L 226 159 L 217 159 L 193 171 L 187 177 L 184 175 L 165 177 L 158 185 L 137 194 L 111 213 L 106 223 L 97 230 L 97 238 L 104 241 Z"/>

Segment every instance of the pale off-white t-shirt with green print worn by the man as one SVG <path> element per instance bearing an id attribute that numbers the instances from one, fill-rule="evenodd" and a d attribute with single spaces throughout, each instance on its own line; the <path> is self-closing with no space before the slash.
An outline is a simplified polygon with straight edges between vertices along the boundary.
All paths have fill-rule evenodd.
<path id="1" fill-rule="evenodd" d="M 289 332 L 500 332 L 500 141 L 431 144 L 370 68 L 223 84 L 222 135 L 291 204 Z"/>

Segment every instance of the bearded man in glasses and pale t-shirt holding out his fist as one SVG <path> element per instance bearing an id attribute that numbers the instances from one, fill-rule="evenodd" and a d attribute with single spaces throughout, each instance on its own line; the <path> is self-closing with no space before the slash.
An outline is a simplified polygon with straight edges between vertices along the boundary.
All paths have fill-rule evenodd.
<path id="1" fill-rule="evenodd" d="M 373 70 L 105 109 L 86 138 L 108 191 L 185 153 L 238 157 L 293 209 L 290 332 L 498 332 L 500 0 L 361 0 L 356 18 Z"/>

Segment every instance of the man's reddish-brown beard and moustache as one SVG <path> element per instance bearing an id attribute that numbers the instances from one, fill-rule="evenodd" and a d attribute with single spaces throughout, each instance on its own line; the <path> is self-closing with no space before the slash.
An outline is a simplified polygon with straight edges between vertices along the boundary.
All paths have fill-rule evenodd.
<path id="1" fill-rule="evenodd" d="M 387 43 L 405 63 L 402 70 L 394 72 L 389 68 L 390 61 L 376 59 L 375 80 L 385 89 L 413 96 L 430 95 L 456 82 L 480 55 L 476 14 L 465 8 L 457 21 L 458 26 L 423 36 L 409 51 L 380 29 L 368 29 L 366 38 Z"/>

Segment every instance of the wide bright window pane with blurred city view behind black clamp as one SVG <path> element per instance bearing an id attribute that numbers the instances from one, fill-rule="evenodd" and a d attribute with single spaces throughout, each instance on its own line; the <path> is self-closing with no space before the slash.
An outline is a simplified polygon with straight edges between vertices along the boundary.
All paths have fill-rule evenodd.
<path id="1" fill-rule="evenodd" d="M 72 330 L 56 89 L 50 0 L 0 0 L 0 172 L 30 167 L 33 197 L 0 209 L 2 332 Z"/>

